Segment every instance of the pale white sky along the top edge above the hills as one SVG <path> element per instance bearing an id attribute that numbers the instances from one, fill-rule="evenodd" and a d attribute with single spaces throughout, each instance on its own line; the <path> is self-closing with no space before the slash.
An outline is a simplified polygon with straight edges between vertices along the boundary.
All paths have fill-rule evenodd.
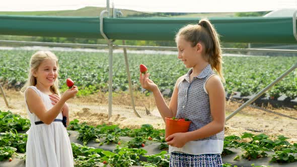
<path id="1" fill-rule="evenodd" d="M 110 0 L 117 9 L 142 12 L 256 12 L 283 8 L 297 10 L 297 0 Z M 77 10 L 86 6 L 106 7 L 106 0 L 0 0 L 0 11 Z"/>

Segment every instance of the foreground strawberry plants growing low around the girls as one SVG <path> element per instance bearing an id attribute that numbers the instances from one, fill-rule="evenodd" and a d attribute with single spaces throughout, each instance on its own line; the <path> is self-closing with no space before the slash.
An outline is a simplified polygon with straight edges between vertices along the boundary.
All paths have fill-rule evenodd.
<path id="1" fill-rule="evenodd" d="M 2 127 L 0 129 L 0 165 L 1 161 L 12 157 L 11 160 L 16 158 L 25 160 L 28 136 L 21 132 L 28 130 L 30 121 L 10 111 L 0 111 L 0 118 Z M 121 129 L 117 125 L 105 124 L 95 127 L 74 120 L 70 122 L 67 130 L 68 133 L 71 132 L 70 136 L 73 132 L 78 133 L 77 142 L 71 142 L 75 166 L 169 166 L 170 155 L 164 139 L 164 129 L 154 129 L 149 124 L 144 124 L 139 129 Z M 223 166 L 236 166 L 226 162 L 227 155 L 232 155 L 233 160 L 237 162 L 244 159 L 252 160 L 247 161 L 244 166 L 255 166 L 252 162 L 263 157 L 269 157 L 270 162 L 267 161 L 267 164 L 292 163 L 294 166 L 297 162 L 297 143 L 290 144 L 286 139 L 282 135 L 270 139 L 265 134 L 251 133 L 243 133 L 242 136 L 226 136 L 221 154 L 225 163 Z M 88 146 L 90 142 L 95 143 L 94 147 Z M 158 151 L 155 151 L 155 154 L 149 154 L 146 149 L 156 144 Z M 114 149 L 105 150 L 101 147 L 107 148 L 108 145 L 115 145 Z M 243 153 L 235 154 L 234 149 L 241 149 Z"/>

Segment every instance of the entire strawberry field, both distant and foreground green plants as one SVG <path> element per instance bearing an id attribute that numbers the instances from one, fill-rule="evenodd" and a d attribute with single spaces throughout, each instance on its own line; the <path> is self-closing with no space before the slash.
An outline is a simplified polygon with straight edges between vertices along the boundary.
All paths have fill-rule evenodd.
<path id="1" fill-rule="evenodd" d="M 0 50 L 0 82 L 7 89 L 19 90 L 27 79 L 29 60 L 34 51 Z M 67 89 L 71 77 L 79 87 L 79 96 L 108 90 L 108 53 L 54 52 L 59 58 L 60 90 Z M 123 54 L 114 53 L 113 90 L 127 91 L 128 80 Z M 151 78 L 163 92 L 172 92 L 176 79 L 188 69 L 176 55 L 128 53 L 134 91 L 140 88 L 139 64 L 145 64 Z M 259 92 L 297 62 L 286 56 L 225 56 L 225 89 L 249 96 Z M 287 100 L 297 97 L 296 70 L 266 93 L 266 97 Z M 150 94 L 149 92 L 145 92 Z M 170 94 L 170 93 L 169 93 Z M 0 111 L 0 166 L 25 166 L 27 134 L 30 121 L 9 111 Z M 75 166 L 169 166 L 164 129 L 144 124 L 138 129 L 118 125 L 92 126 L 73 120 L 67 128 Z M 294 132 L 292 132 L 294 133 Z M 297 166 L 297 145 L 283 135 L 243 133 L 226 136 L 222 159 L 224 166 Z M 10 162 L 9 159 L 12 158 Z"/>

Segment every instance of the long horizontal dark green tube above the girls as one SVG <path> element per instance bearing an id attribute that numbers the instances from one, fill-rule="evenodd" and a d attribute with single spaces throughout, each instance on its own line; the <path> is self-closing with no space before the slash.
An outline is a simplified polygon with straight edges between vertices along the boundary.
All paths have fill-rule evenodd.
<path id="1" fill-rule="evenodd" d="M 224 42 L 297 43 L 291 17 L 209 18 Z M 109 39 L 174 40 L 176 32 L 199 18 L 104 18 Z M 99 17 L 0 16 L 0 34 L 103 38 Z"/>

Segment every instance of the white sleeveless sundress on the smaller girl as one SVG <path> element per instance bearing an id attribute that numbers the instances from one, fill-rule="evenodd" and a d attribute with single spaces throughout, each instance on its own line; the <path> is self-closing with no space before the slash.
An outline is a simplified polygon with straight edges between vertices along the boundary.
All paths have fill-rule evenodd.
<path id="1" fill-rule="evenodd" d="M 40 96 L 46 110 L 53 107 L 48 95 L 42 93 L 34 86 L 29 88 L 33 89 Z M 27 102 L 26 108 L 31 122 L 31 127 L 27 132 L 26 166 L 73 166 L 72 148 L 66 128 L 62 122 L 52 122 L 50 125 L 35 125 L 35 122 L 40 121 L 40 119 L 34 113 L 30 113 Z M 62 119 L 62 113 L 59 113 L 56 119 Z"/>

